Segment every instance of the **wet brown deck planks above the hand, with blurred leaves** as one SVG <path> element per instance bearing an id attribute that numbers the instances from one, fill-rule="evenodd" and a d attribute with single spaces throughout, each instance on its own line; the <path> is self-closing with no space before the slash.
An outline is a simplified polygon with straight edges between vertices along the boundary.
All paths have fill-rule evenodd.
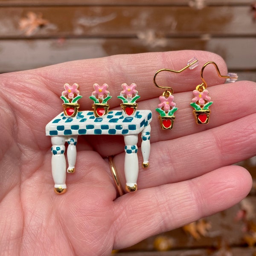
<path id="1" fill-rule="evenodd" d="M 203 9 L 192 2 L 0 0 L 0 72 L 113 54 L 201 49 L 220 54 L 240 79 L 256 81 L 251 1 L 205 1 Z M 19 24 L 29 12 L 48 23 L 28 35 Z"/>

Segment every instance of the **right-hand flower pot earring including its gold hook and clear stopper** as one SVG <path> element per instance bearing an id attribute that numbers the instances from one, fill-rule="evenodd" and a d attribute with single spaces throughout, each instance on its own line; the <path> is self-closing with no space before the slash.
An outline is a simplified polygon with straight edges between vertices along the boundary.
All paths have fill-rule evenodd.
<path id="1" fill-rule="evenodd" d="M 207 65 L 213 64 L 215 69 L 217 70 L 218 76 L 220 78 L 226 78 L 228 82 L 235 82 L 238 79 L 238 76 L 235 73 L 228 73 L 227 76 L 221 76 L 220 70 L 215 62 L 209 61 L 201 69 L 201 79 L 202 83 L 198 84 L 193 90 L 192 102 L 190 105 L 194 108 L 193 113 L 195 116 L 195 122 L 198 125 L 206 125 L 209 122 L 209 115 L 211 111 L 209 110 L 209 106 L 212 105 L 211 98 L 208 96 L 209 91 L 206 90 L 207 83 L 204 80 L 203 72 Z"/>

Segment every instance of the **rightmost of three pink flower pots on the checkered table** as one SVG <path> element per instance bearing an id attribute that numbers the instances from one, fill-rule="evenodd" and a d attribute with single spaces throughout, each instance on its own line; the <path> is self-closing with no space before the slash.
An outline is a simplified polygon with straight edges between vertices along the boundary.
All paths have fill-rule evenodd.
<path id="1" fill-rule="evenodd" d="M 132 83 L 131 85 L 122 84 L 122 91 L 120 96 L 117 96 L 118 99 L 122 100 L 120 104 L 124 116 L 132 116 L 135 114 L 138 104 L 136 103 L 137 99 L 140 99 L 138 91 L 135 90 L 136 84 Z"/>

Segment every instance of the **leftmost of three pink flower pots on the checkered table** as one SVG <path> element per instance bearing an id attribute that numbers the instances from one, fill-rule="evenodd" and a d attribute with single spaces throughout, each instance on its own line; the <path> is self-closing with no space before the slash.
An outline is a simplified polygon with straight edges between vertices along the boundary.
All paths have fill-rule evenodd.
<path id="1" fill-rule="evenodd" d="M 78 113 L 78 109 L 80 107 L 78 100 L 82 98 L 79 95 L 79 85 L 73 84 L 70 86 L 69 84 L 64 84 L 64 91 L 61 93 L 61 99 L 64 101 L 62 104 L 64 115 L 67 117 L 75 117 Z"/>

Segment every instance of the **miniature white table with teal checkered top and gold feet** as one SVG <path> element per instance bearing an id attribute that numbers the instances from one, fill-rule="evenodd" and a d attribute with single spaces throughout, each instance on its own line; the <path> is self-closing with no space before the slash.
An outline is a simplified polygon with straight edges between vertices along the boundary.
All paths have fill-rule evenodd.
<path id="1" fill-rule="evenodd" d="M 76 117 L 66 117 L 60 113 L 46 126 L 46 135 L 52 141 L 52 176 L 55 192 L 64 193 L 66 186 L 65 143 L 68 143 L 67 172 L 75 171 L 76 144 L 78 135 L 110 134 L 123 135 L 125 140 L 125 178 L 126 188 L 137 187 L 139 164 L 137 157 L 138 134 L 141 133 L 143 167 L 148 167 L 150 153 L 150 122 L 152 113 L 140 110 L 132 116 L 123 116 L 122 111 L 110 111 L 103 117 L 95 117 L 93 111 L 80 111 Z M 131 190 L 133 191 L 133 190 Z"/>

